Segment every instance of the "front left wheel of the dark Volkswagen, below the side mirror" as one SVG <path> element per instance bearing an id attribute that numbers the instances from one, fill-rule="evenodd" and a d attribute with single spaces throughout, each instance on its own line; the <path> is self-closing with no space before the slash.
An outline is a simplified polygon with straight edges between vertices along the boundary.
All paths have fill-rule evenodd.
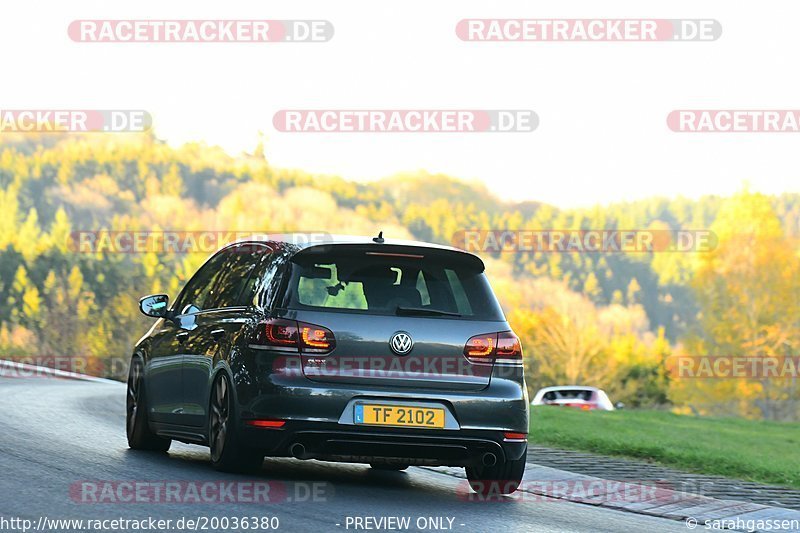
<path id="1" fill-rule="evenodd" d="M 151 450 L 166 452 L 172 439 L 159 437 L 150 429 L 147 411 L 147 390 L 144 380 L 142 358 L 131 359 L 128 370 L 128 391 L 125 401 L 125 432 L 128 446 L 132 450 Z"/>

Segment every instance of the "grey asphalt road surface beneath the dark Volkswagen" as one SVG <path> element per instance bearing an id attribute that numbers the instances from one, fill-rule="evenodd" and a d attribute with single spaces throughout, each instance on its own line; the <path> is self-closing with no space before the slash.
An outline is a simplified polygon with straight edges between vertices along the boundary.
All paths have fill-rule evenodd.
<path id="1" fill-rule="evenodd" d="M 116 383 L 0 378 L 0 531 L 21 531 L 22 519 L 31 521 L 31 530 L 81 530 L 53 527 L 48 521 L 54 519 L 84 520 L 82 530 L 131 530 L 131 522 L 88 521 L 151 517 L 172 520 L 172 531 L 180 519 L 184 530 L 194 530 L 186 520 L 198 520 L 198 530 L 222 531 L 241 517 L 274 517 L 279 531 L 315 533 L 687 531 L 679 522 L 563 501 L 474 501 L 463 480 L 422 468 L 377 472 L 267 459 L 251 475 L 221 474 L 204 447 L 173 443 L 168 454 L 129 450 L 124 398 L 124 385 Z M 205 521 L 211 517 L 228 522 Z M 389 517 L 408 519 L 408 528 L 385 522 Z"/>

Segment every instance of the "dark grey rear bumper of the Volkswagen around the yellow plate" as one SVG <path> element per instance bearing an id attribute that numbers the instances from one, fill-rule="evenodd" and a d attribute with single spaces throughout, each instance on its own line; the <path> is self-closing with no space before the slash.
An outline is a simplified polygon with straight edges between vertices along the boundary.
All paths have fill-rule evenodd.
<path id="1" fill-rule="evenodd" d="M 318 383 L 294 372 L 274 371 L 267 354 L 243 369 L 257 369 L 237 386 L 243 420 L 283 420 L 280 429 L 241 424 L 247 445 L 265 455 L 292 456 L 301 444 L 306 458 L 371 462 L 404 459 L 409 464 L 470 466 L 485 453 L 519 459 L 526 442 L 505 442 L 504 432 L 528 432 L 528 396 L 522 368 L 493 375 L 480 391 L 388 387 L 378 384 Z M 246 372 L 242 373 L 247 375 Z M 356 403 L 443 407 L 444 429 L 356 424 Z M 295 447 L 295 451 L 297 451 Z M 297 454 L 294 454 L 297 455 Z"/>

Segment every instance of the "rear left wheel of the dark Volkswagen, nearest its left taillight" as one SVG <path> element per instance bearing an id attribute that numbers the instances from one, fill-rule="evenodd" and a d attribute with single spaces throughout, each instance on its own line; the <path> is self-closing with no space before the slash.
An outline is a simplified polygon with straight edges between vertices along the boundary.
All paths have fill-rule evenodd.
<path id="1" fill-rule="evenodd" d="M 264 454 L 243 446 L 237 431 L 236 402 L 225 373 L 211 387 L 208 411 L 208 445 L 211 465 L 222 472 L 249 472 L 264 462 Z"/>

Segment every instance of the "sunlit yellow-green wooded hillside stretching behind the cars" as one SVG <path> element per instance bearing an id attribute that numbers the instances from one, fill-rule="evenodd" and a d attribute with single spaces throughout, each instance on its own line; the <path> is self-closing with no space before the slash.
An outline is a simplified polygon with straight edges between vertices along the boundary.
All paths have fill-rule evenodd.
<path id="1" fill-rule="evenodd" d="M 678 355 L 791 356 L 800 322 L 800 195 L 650 198 L 560 209 L 504 202 L 424 172 L 368 183 L 151 134 L 5 136 L 0 143 L 0 350 L 84 356 L 120 377 L 147 319 L 207 253 L 85 253 L 82 230 L 327 231 L 454 243 L 464 230 L 711 230 L 698 252 L 480 255 L 526 351 L 531 389 L 605 387 L 634 407 L 797 420 L 791 379 L 675 379 Z"/>

